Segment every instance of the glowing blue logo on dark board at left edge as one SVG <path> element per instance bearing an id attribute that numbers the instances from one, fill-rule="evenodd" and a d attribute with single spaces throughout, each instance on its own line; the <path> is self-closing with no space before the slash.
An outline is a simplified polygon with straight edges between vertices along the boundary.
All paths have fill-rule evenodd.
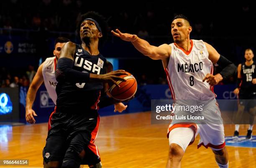
<path id="1" fill-rule="evenodd" d="M 13 103 L 10 101 L 10 97 L 6 93 L 0 94 L 0 115 L 8 114 L 13 111 Z"/>

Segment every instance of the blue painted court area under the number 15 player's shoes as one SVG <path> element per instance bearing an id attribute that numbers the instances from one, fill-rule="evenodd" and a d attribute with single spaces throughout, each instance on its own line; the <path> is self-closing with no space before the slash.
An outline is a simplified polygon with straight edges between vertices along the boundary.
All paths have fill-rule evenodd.
<path id="1" fill-rule="evenodd" d="M 250 140 L 246 139 L 245 136 L 225 137 L 226 146 L 236 146 L 236 147 L 249 147 L 256 148 L 256 136 L 252 136 Z"/>

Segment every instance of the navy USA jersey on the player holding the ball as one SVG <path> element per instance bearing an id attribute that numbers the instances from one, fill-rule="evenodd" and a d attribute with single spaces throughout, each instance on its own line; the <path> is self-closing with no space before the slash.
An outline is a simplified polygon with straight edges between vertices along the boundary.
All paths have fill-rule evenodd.
<path id="1" fill-rule="evenodd" d="M 76 44 L 73 69 L 91 74 L 106 73 L 106 59 L 101 55 L 91 55 L 80 44 Z M 57 107 L 76 109 L 97 109 L 102 82 L 72 83 L 61 81 L 56 86 Z"/>

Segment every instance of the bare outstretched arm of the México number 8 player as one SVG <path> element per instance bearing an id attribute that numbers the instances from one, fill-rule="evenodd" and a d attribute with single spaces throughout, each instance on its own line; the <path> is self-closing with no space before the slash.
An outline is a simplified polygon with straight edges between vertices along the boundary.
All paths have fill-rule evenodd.
<path id="1" fill-rule="evenodd" d="M 151 59 L 161 59 L 164 60 L 169 58 L 172 52 L 172 47 L 168 44 L 162 44 L 159 47 L 150 45 L 146 40 L 139 38 L 137 35 L 131 35 L 128 33 L 122 33 L 120 30 L 116 29 L 111 31 L 116 37 L 124 41 L 131 42 L 133 46 L 138 49 L 142 54 L 150 57 Z"/>

